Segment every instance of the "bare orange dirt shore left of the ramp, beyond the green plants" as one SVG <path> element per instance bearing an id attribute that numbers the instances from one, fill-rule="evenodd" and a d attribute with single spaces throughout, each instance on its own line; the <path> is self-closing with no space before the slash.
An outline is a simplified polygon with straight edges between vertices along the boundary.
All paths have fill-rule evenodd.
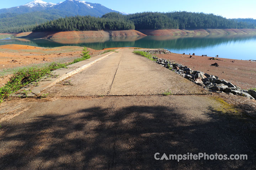
<path id="1" fill-rule="evenodd" d="M 42 48 L 27 45 L 1 45 L 0 46 L 0 87 L 9 81 L 11 74 L 18 68 L 26 66 L 43 66 L 51 62 L 71 62 L 80 57 L 82 47 L 63 46 L 55 48 Z M 92 57 L 100 54 L 88 48 Z"/>

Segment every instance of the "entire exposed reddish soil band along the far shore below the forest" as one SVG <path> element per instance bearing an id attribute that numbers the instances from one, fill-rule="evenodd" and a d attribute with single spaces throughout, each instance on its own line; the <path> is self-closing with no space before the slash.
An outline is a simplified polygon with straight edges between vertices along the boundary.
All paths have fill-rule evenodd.
<path id="1" fill-rule="evenodd" d="M 160 30 L 120 30 L 120 31 L 66 31 L 66 32 L 30 32 L 19 33 L 14 36 L 24 36 L 32 39 L 82 39 L 101 37 L 127 36 L 165 36 L 165 35 L 221 35 L 221 34 L 256 34 L 256 29 L 160 29 Z"/>

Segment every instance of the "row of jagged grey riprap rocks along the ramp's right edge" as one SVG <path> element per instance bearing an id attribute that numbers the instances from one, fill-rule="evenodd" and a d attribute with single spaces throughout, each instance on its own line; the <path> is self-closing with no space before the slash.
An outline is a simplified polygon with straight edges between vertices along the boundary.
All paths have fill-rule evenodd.
<path id="1" fill-rule="evenodd" d="M 242 90 L 240 87 L 226 80 L 219 80 L 217 76 L 195 71 L 188 68 L 187 66 L 172 63 L 161 58 L 153 57 L 153 60 L 156 63 L 161 64 L 163 67 L 173 70 L 175 73 L 180 74 L 182 77 L 192 81 L 193 83 L 196 83 L 199 86 L 204 87 L 205 89 L 208 89 L 209 91 L 218 93 L 225 92 L 231 95 L 242 95 L 251 99 L 255 99 L 255 96 L 252 97 L 253 95 L 250 95 L 254 94 L 251 90 Z"/>

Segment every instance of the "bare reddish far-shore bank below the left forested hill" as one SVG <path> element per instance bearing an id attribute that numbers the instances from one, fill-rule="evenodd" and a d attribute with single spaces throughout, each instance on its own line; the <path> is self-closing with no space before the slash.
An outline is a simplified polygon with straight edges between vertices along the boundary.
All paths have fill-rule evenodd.
<path id="1" fill-rule="evenodd" d="M 66 32 L 33 32 L 26 38 L 47 38 L 47 39 L 80 39 L 80 38 L 97 38 L 110 36 L 146 36 L 137 30 L 121 31 L 66 31 Z"/>

